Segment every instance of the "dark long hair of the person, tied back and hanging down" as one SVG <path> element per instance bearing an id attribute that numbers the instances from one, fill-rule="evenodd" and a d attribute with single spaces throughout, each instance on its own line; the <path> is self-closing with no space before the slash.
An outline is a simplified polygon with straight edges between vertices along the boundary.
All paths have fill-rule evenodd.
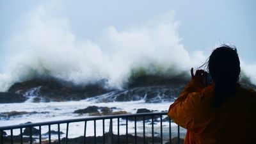
<path id="1" fill-rule="evenodd" d="M 212 106 L 217 108 L 236 92 L 241 71 L 236 47 L 221 45 L 214 49 L 207 68 L 214 80 Z"/>

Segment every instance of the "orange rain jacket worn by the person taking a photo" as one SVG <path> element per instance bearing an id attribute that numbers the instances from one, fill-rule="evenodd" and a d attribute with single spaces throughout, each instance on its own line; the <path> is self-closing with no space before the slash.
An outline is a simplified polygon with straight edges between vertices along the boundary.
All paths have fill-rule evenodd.
<path id="1" fill-rule="evenodd" d="M 191 79 L 168 111 L 187 129 L 185 144 L 256 143 L 256 93 L 237 86 L 237 92 L 213 108 L 213 84 L 205 87 Z"/>

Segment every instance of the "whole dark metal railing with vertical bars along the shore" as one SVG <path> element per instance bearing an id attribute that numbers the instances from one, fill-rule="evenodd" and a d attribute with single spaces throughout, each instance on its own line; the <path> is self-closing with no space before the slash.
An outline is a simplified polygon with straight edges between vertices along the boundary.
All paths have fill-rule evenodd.
<path id="1" fill-rule="evenodd" d="M 165 118 L 163 118 L 165 117 Z M 79 122 L 79 123 L 77 123 Z M 83 124 L 81 124 L 83 123 Z M 76 127 L 70 127 L 76 124 Z M 164 124 L 164 125 L 163 125 Z M 63 127 L 64 125 L 64 127 Z M 114 125 L 116 128 L 113 129 Z M 33 129 L 38 128 L 37 134 Z M 42 134 L 48 131 L 47 136 Z M 45 128 L 46 127 L 46 128 Z M 100 129 L 97 129 L 99 127 Z M 109 131 L 106 130 L 109 127 Z M 175 131 L 172 127 L 177 127 Z M 57 129 L 56 134 L 52 134 L 52 129 Z M 26 130 L 27 129 L 27 130 Z M 64 130 L 64 132 L 61 131 Z M 69 132 L 72 129 L 72 138 Z M 93 131 L 92 131 L 93 130 Z M 177 130 L 177 131 L 176 131 Z M 24 134 L 28 131 L 28 134 Z M 82 131 L 83 135 L 79 136 Z M 90 131 L 90 132 L 87 132 Z M 15 135 L 14 132 L 18 135 Z M 87 132 L 87 135 L 86 135 Z M 8 133 L 8 134 L 7 134 Z M 54 136 L 53 136 L 54 135 Z M 63 136 L 65 135 L 65 136 Z M 44 138 L 43 138 L 44 136 Z M 62 138 L 61 138 L 62 136 Z M 172 138 L 177 138 L 180 143 L 180 127 L 173 126 L 166 112 L 160 113 L 137 113 L 128 115 L 109 115 L 77 118 L 72 120 L 58 120 L 52 122 L 40 122 L 20 125 L 10 125 L 0 127 L 0 143 L 165 143 Z M 76 141 L 76 142 L 74 142 Z"/>

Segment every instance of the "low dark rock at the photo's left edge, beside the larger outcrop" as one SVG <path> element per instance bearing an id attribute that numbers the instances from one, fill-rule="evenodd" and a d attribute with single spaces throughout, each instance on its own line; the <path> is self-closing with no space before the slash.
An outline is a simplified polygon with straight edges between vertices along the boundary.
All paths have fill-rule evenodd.
<path id="1" fill-rule="evenodd" d="M 25 102 L 26 100 L 26 97 L 17 93 L 0 92 L 0 103 Z"/>

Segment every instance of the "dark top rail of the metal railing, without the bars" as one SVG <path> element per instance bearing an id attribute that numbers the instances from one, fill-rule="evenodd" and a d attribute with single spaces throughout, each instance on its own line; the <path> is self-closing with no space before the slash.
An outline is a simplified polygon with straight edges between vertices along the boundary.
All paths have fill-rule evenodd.
<path id="1" fill-rule="evenodd" d="M 125 117 L 138 117 L 138 116 L 148 116 L 148 115 L 167 115 L 167 112 L 157 112 L 157 113 L 135 113 L 135 114 L 124 114 L 124 115 L 108 115 L 108 116 L 90 116 L 86 118 L 76 118 L 69 120 L 56 120 L 49 122 L 38 122 L 38 123 L 30 123 L 30 124 L 19 124 L 19 125 L 8 125 L 0 127 L 0 131 L 8 130 L 8 129 L 20 129 L 24 127 L 38 127 L 42 125 L 54 125 L 54 124 L 67 124 L 72 122 L 84 122 L 90 120 L 105 120 L 111 118 L 125 118 Z"/>

